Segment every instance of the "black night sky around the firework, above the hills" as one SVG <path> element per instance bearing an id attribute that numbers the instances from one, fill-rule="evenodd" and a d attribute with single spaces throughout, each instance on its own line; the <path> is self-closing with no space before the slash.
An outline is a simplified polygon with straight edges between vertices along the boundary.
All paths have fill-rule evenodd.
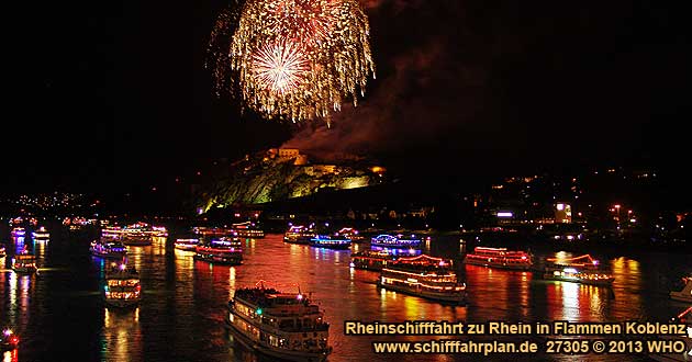
<path id="1" fill-rule="evenodd" d="M 121 191 L 282 144 L 451 180 L 685 165 L 692 63 L 678 4 L 364 4 L 377 80 L 332 129 L 214 98 L 204 59 L 225 1 L 20 5 L 3 52 L 3 191 Z"/>

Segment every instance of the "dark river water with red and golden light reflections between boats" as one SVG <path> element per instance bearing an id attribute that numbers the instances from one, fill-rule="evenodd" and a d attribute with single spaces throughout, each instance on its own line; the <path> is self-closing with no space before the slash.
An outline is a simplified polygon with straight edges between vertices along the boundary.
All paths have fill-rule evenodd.
<path id="1" fill-rule="evenodd" d="M 330 342 L 334 353 L 330 361 L 479 360 L 461 355 L 376 355 L 370 344 L 373 340 L 421 338 L 344 336 L 344 320 L 667 320 L 685 307 L 667 297 L 671 283 L 680 273 L 692 271 L 689 254 L 629 253 L 626 248 L 622 254 L 591 251 L 612 268 L 616 278 L 612 290 L 548 282 L 531 272 L 460 265 L 469 304 L 446 306 L 378 290 L 376 272 L 348 268 L 348 250 L 288 245 L 281 235 L 268 235 L 244 241 L 243 265 L 214 267 L 192 260 L 192 252 L 175 250 L 172 238 L 158 238 L 148 247 L 131 247 L 130 262 L 141 273 L 143 301 L 134 310 L 113 310 L 101 301 L 105 263 L 89 254 L 90 237 L 54 229 L 49 241 L 33 241 L 31 237 L 11 239 L 9 233 L 3 233 L 0 240 L 8 253 L 25 242 L 42 268 L 38 275 L 16 275 L 9 270 L 11 256 L 0 259 L 5 268 L 0 272 L 0 326 L 10 326 L 22 337 L 16 353 L 5 352 L 4 360 L 269 361 L 236 346 L 223 327 L 224 305 L 233 291 L 259 280 L 286 291 L 297 292 L 295 285 L 300 285 L 302 292 L 311 292 L 321 303 L 332 324 Z M 460 257 L 459 239 L 455 237 L 433 238 L 427 248 L 433 254 Z M 536 254 L 555 256 L 557 251 Z M 617 361 L 623 357 L 553 359 Z"/>

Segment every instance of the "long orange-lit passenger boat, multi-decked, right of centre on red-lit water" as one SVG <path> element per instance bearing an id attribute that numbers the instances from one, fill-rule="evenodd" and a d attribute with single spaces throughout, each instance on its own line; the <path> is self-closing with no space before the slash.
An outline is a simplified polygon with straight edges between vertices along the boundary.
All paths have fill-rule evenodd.
<path id="1" fill-rule="evenodd" d="M 451 261 L 427 254 L 388 262 L 382 268 L 378 286 L 457 304 L 466 296 L 466 284 L 459 283 Z"/>

